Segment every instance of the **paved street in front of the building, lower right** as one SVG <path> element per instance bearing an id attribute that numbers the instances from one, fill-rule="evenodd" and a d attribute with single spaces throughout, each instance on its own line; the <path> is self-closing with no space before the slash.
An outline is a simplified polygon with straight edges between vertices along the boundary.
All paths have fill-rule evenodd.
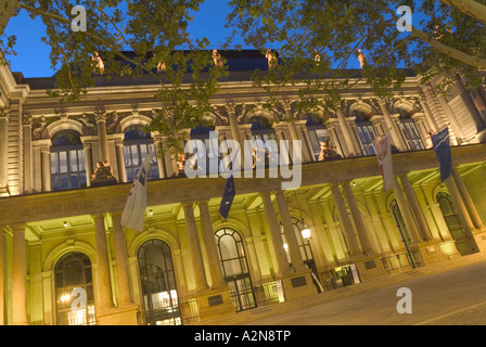
<path id="1" fill-rule="evenodd" d="M 400 287 L 410 313 L 398 313 Z M 248 322 L 251 325 L 486 325 L 486 262 L 417 278 L 369 293 Z"/>

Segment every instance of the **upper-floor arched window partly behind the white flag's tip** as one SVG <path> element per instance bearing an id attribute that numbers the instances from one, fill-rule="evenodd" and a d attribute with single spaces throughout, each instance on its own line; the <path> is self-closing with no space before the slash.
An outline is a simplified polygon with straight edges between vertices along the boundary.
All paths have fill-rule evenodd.
<path id="1" fill-rule="evenodd" d="M 127 128 L 124 140 L 124 159 L 127 182 L 132 182 L 135 180 L 140 166 L 150 153 L 150 149 L 152 149 L 152 155 L 149 179 L 155 180 L 159 178 L 159 175 L 154 140 L 151 138 L 150 133 L 144 133 L 139 126 L 130 126 Z"/>

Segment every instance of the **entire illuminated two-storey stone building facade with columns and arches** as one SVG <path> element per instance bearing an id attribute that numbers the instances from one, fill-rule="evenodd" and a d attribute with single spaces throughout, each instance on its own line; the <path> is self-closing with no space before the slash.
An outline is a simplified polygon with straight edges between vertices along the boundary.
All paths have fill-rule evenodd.
<path id="1" fill-rule="evenodd" d="M 0 324 L 197 324 L 486 252 L 483 87 L 458 77 L 444 97 L 439 79 L 410 74 L 381 100 L 358 81 L 335 114 L 297 114 L 293 86 L 269 112 L 246 70 L 265 56 L 231 54 L 207 115 L 214 129 L 188 129 L 188 140 L 208 130 L 219 144 L 300 140 L 303 165 L 296 190 L 282 190 L 284 178 L 235 178 L 227 219 L 226 180 L 184 177 L 180 157 L 156 155 L 165 138 L 143 132 L 163 107 L 154 80 L 97 76 L 60 105 L 47 94 L 54 77 L 0 67 Z M 427 132 L 444 127 L 453 170 L 440 182 Z M 373 141 L 387 131 L 395 181 L 383 192 Z M 321 155 L 328 140 L 332 155 Z M 120 217 L 151 149 L 138 232 Z M 93 184 L 98 162 L 116 184 Z"/>

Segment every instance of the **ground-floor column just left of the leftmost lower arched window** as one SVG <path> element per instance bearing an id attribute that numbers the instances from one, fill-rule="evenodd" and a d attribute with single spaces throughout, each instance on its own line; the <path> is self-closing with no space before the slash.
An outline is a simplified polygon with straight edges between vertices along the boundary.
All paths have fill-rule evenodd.
<path id="1" fill-rule="evenodd" d="M 27 255 L 25 224 L 11 226 L 12 244 L 12 324 L 27 325 Z"/>

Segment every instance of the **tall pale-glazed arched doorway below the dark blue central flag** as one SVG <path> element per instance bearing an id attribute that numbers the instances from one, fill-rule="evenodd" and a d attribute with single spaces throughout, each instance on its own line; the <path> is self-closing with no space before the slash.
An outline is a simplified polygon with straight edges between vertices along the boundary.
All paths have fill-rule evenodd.
<path id="1" fill-rule="evenodd" d="M 215 233 L 225 282 L 236 312 L 256 307 L 243 241 L 238 231 L 223 228 Z"/>

